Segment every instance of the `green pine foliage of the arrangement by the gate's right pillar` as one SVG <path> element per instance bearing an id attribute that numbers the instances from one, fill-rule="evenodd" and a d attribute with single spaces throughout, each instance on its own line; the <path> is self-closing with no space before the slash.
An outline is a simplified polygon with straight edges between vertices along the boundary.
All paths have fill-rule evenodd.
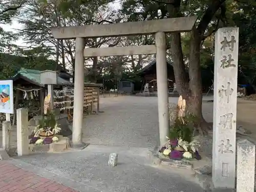
<path id="1" fill-rule="evenodd" d="M 172 126 L 170 126 L 170 140 L 181 138 L 183 141 L 191 142 L 194 134 L 194 124 L 197 118 L 194 115 L 185 115 L 182 118 L 176 118 Z"/>

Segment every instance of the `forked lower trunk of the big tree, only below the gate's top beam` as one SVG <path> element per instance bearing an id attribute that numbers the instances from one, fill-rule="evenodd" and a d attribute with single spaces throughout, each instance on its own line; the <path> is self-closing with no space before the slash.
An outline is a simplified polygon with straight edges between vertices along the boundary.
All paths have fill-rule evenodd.
<path id="1" fill-rule="evenodd" d="M 170 52 L 173 59 L 173 68 L 177 91 L 186 100 L 187 113 L 198 118 L 198 131 L 203 134 L 206 131 L 206 122 L 202 116 L 202 82 L 200 71 L 200 44 L 201 40 L 195 29 L 191 32 L 190 58 L 188 74 L 185 69 L 180 33 L 171 35 Z"/>

